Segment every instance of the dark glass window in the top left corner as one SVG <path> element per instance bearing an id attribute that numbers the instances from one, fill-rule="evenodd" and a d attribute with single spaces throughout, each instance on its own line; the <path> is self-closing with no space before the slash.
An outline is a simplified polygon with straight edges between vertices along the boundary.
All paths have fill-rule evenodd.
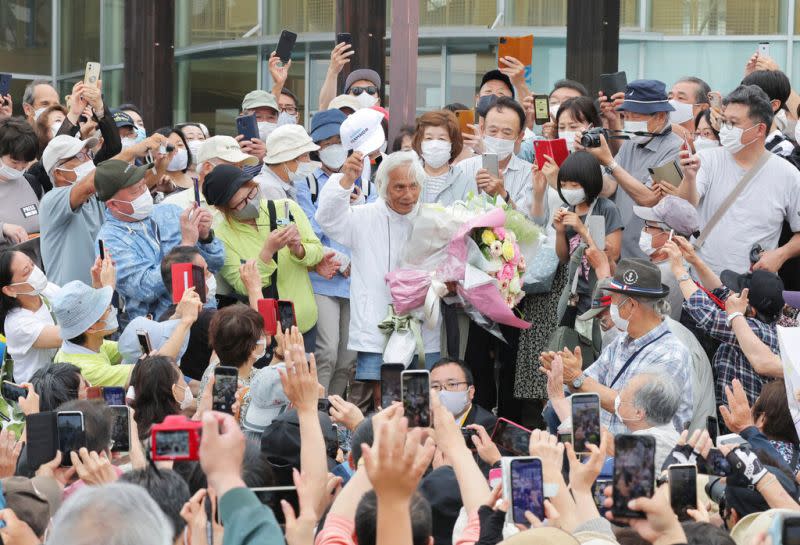
<path id="1" fill-rule="evenodd" d="M 0 28 L 3 29 L 0 32 L 0 66 L 3 72 L 51 73 L 51 22 L 51 0 L 0 2 Z"/>

